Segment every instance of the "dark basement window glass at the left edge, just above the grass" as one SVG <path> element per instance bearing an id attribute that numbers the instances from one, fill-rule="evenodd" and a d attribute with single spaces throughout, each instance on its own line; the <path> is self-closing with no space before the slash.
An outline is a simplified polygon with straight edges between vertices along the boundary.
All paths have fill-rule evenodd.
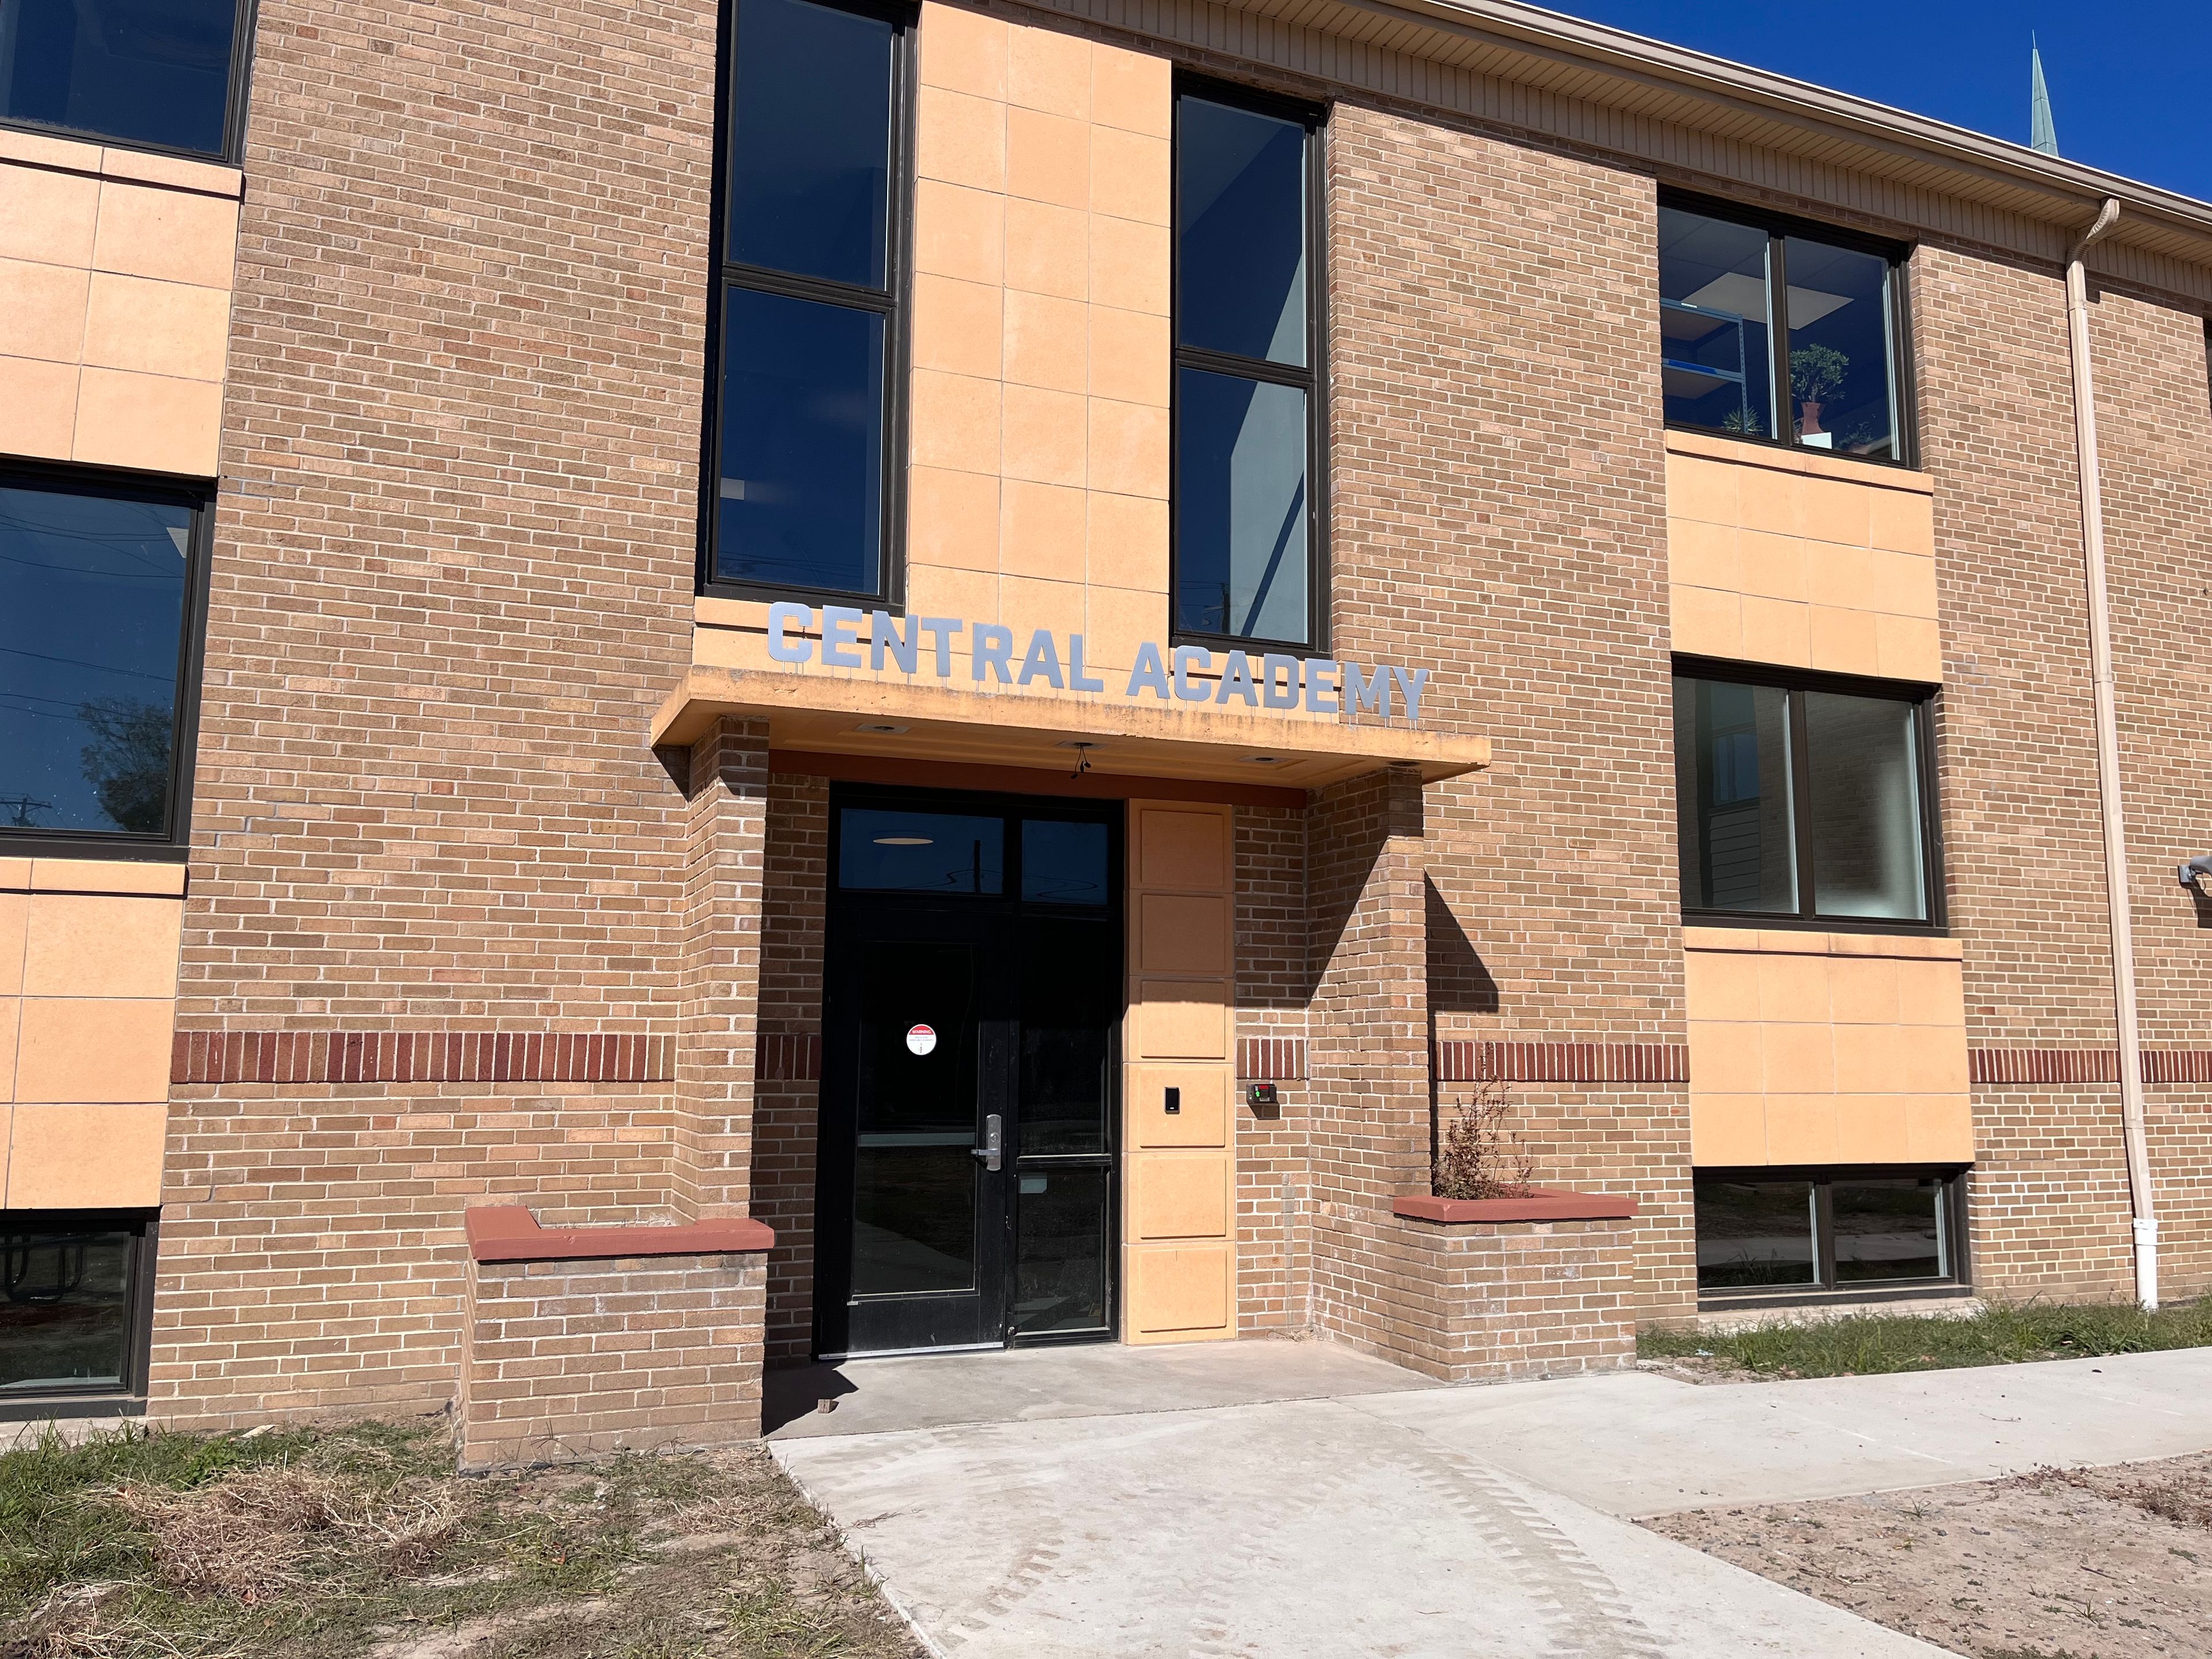
<path id="1" fill-rule="evenodd" d="M 133 1237 L 20 1223 L 0 1223 L 0 1398 L 122 1389 Z"/>

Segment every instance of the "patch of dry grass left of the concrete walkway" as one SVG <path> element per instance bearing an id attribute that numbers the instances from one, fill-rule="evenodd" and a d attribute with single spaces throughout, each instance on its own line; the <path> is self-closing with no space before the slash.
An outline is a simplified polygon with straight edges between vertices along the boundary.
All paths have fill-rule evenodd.
<path id="1" fill-rule="evenodd" d="M 914 1659 L 759 1447 L 460 1480 L 442 1422 L 0 1455 L 0 1659 Z"/>

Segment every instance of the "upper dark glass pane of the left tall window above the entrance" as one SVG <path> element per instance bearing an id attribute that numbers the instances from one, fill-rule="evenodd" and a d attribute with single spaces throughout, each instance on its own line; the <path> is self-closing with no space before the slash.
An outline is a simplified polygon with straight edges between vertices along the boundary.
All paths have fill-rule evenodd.
<path id="1" fill-rule="evenodd" d="M 741 0 L 730 259 L 885 285 L 894 42 L 878 18 Z"/>

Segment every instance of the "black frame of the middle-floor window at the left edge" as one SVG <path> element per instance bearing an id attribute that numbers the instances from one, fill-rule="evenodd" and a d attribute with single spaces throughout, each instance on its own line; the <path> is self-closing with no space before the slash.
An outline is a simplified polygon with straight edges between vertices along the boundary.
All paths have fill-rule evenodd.
<path id="1" fill-rule="evenodd" d="M 184 615 L 177 641 L 177 710 L 168 752 L 168 823 L 159 836 L 128 830 L 18 830 L 0 825 L 0 858 L 135 858 L 181 865 L 192 852 L 192 759 L 199 743 L 199 690 L 208 641 L 208 564 L 215 553 L 215 484 L 62 465 L 0 462 L 0 484 L 115 500 L 159 500 L 192 509 Z"/>

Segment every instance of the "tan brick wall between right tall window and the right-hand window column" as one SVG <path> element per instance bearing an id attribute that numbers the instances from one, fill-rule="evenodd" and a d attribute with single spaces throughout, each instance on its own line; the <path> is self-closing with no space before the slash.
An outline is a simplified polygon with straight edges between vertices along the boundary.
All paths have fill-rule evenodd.
<path id="1" fill-rule="evenodd" d="M 1648 179 L 1338 104 L 1329 126 L 1340 655 L 1436 664 L 1493 765 L 1429 790 L 1438 1037 L 1683 1042 L 1666 449 Z M 1681 1086 L 1515 1086 L 1542 1179 L 1635 1190 L 1641 1294 L 1690 1296 Z"/>

